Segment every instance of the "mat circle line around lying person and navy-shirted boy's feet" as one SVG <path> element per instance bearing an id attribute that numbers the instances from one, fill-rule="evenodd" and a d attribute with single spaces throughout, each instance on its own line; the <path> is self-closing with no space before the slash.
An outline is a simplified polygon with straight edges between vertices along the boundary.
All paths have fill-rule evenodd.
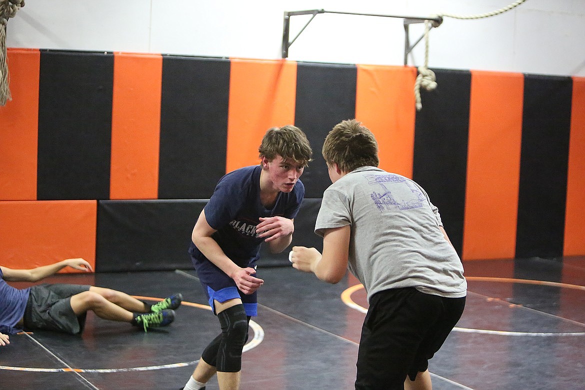
<path id="1" fill-rule="evenodd" d="M 136 299 L 146 299 L 147 301 L 163 301 L 164 299 L 161 298 L 153 298 L 151 296 L 140 296 L 140 295 L 132 295 Z M 200 303 L 194 302 L 181 302 L 181 306 L 192 306 L 198 309 L 210 310 L 211 308 L 209 305 L 201 305 Z M 258 325 L 253 320 L 250 320 L 250 327 L 254 331 L 254 338 L 244 346 L 243 352 L 249 351 L 252 348 L 259 346 L 259 344 L 264 340 L 264 329 L 260 325 Z M 5 347 L 4 347 L 5 348 Z M 198 360 L 188 361 L 183 363 L 171 363 L 171 364 L 161 364 L 161 365 L 149 365 L 146 367 L 130 367 L 130 368 L 102 368 L 102 369 L 85 369 L 85 368 L 34 368 L 34 367 L 12 367 L 9 365 L 0 365 L 0 370 L 9 370 L 9 371 L 30 371 L 30 372 L 99 372 L 99 373 L 108 373 L 108 372 L 129 372 L 129 371 L 150 371 L 150 370 L 162 370 L 164 368 L 177 368 L 177 367 L 185 367 L 187 365 L 196 364 Z"/>

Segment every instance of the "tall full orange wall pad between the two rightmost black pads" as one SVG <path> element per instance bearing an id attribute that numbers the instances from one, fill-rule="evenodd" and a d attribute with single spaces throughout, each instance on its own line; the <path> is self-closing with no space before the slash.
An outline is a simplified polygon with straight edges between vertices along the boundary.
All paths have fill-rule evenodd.
<path id="1" fill-rule="evenodd" d="M 524 76 L 472 71 L 463 260 L 514 258 Z"/>

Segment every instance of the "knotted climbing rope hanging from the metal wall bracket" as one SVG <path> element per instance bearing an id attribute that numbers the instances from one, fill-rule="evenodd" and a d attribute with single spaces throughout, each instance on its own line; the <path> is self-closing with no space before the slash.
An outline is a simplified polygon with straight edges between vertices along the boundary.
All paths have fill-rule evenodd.
<path id="1" fill-rule="evenodd" d="M 526 0 L 517 0 L 512 4 L 505 6 L 504 8 L 497 9 L 495 11 L 486 12 L 486 13 L 479 13 L 477 15 L 454 15 L 452 13 L 442 13 L 441 16 L 443 18 L 453 18 L 453 19 L 483 19 L 489 18 L 490 16 L 500 15 L 501 13 L 510 11 L 511 9 L 516 8 L 517 6 L 524 3 Z M 432 27 L 438 27 L 433 25 Z M 428 68 L 429 64 L 429 31 L 431 30 L 431 22 L 429 20 L 425 20 L 425 63 L 422 66 L 418 67 L 418 75 L 417 81 L 414 84 L 414 97 L 416 101 L 417 111 L 421 111 L 422 109 L 422 102 L 421 102 L 421 87 L 425 88 L 426 91 L 432 91 L 437 87 L 435 73 Z"/>

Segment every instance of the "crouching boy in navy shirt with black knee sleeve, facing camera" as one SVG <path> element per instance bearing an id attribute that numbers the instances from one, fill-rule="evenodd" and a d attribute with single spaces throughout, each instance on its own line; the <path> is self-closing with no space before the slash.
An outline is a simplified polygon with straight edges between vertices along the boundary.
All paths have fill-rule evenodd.
<path id="1" fill-rule="evenodd" d="M 222 332 L 205 348 L 184 389 L 199 390 L 215 373 L 221 390 L 238 389 L 248 323 L 257 315 L 260 244 L 279 253 L 288 247 L 305 188 L 299 180 L 311 161 L 305 134 L 273 127 L 259 147 L 260 165 L 219 180 L 199 215 L 189 249 Z"/>

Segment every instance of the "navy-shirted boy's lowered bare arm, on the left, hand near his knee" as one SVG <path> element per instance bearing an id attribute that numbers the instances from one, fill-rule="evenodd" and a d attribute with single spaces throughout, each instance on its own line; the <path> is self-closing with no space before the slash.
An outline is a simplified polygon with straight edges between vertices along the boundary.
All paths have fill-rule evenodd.
<path id="1" fill-rule="evenodd" d="M 202 210 L 191 233 L 191 240 L 211 263 L 217 265 L 220 270 L 236 282 L 240 291 L 244 294 L 252 294 L 264 281 L 252 276 L 252 274 L 256 274 L 254 268 L 239 267 L 226 256 L 217 241 L 211 237 L 215 232 L 216 230 L 209 226 L 205 218 L 205 210 Z"/>

